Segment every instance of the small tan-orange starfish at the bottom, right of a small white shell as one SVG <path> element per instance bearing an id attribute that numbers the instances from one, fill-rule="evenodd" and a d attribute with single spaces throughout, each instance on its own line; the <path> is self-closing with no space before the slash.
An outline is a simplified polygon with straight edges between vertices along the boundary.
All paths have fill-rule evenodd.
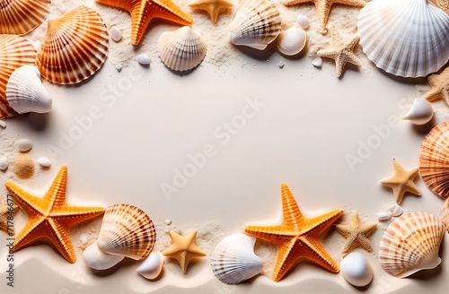
<path id="1" fill-rule="evenodd" d="M 172 246 L 163 250 L 163 255 L 172 257 L 180 263 L 180 268 L 182 272 L 187 271 L 187 265 L 190 259 L 193 257 L 200 257 L 206 255 L 206 253 L 201 250 L 195 244 L 197 238 L 197 230 L 194 229 L 186 236 L 180 236 L 176 232 L 169 230 L 170 238 L 172 238 Z"/>

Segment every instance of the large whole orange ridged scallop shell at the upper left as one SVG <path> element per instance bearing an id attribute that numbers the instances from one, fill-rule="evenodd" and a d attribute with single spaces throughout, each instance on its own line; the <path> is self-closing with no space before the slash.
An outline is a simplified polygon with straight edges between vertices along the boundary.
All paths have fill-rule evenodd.
<path id="1" fill-rule="evenodd" d="M 81 5 L 48 21 L 36 64 L 50 82 L 81 82 L 100 69 L 108 46 L 108 30 L 101 16 Z"/>

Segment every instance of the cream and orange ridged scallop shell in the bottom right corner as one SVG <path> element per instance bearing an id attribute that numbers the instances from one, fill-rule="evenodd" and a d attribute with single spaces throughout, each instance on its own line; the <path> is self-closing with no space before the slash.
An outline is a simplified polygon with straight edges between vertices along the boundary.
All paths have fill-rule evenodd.
<path id="1" fill-rule="evenodd" d="M 383 233 L 379 260 L 385 272 L 404 278 L 441 263 L 438 251 L 445 225 L 427 212 L 410 212 L 394 220 Z"/>

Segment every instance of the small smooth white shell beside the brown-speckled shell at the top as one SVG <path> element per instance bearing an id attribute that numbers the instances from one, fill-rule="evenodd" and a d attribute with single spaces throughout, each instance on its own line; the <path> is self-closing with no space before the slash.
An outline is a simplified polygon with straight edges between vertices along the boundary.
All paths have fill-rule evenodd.
<path id="1" fill-rule="evenodd" d="M 294 56 L 303 50 L 306 41 L 307 35 L 303 29 L 289 28 L 277 36 L 277 50 L 286 56 Z"/>

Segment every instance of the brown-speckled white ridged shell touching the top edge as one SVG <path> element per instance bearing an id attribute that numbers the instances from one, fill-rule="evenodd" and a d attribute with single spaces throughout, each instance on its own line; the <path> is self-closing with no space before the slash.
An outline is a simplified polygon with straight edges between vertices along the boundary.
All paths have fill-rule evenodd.
<path id="1" fill-rule="evenodd" d="M 280 30 L 280 13 L 269 0 L 242 0 L 229 24 L 233 44 L 259 50 L 267 48 Z"/>

